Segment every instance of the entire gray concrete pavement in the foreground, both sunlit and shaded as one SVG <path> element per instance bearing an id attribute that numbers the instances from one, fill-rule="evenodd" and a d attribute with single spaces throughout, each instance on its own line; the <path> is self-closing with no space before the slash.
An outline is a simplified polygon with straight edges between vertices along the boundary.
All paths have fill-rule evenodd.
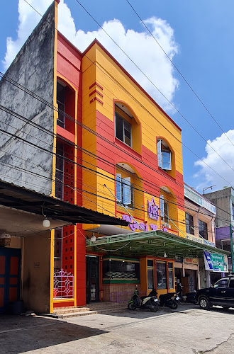
<path id="1" fill-rule="evenodd" d="M 0 316 L 1 354 L 234 353 L 234 310 L 181 305 L 177 312 L 74 317 Z"/>

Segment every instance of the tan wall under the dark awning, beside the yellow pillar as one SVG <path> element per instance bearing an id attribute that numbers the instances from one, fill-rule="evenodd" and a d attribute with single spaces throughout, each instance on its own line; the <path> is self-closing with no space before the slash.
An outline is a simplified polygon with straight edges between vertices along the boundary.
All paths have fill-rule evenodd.
<path id="1" fill-rule="evenodd" d="M 50 232 L 24 238 L 22 299 L 28 310 L 50 312 Z"/>

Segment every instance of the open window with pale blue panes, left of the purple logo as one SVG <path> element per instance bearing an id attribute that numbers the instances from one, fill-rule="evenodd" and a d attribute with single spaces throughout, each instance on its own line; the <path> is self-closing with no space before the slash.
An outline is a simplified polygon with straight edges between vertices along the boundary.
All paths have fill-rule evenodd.
<path id="1" fill-rule="evenodd" d="M 133 208 L 133 185 L 130 177 L 121 177 L 121 173 L 116 173 L 116 198 L 118 204 Z"/>

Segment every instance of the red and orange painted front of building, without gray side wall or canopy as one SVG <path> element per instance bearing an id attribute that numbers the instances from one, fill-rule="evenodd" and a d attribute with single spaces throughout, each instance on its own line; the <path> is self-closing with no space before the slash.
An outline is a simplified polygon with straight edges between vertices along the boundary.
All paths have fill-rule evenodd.
<path id="1" fill-rule="evenodd" d="M 55 28 L 56 12 L 55 1 Z M 157 230 L 185 236 L 181 130 L 97 40 L 81 53 L 55 31 L 55 50 L 55 195 L 129 224 L 55 232 L 55 271 L 71 272 L 77 285 L 66 300 L 54 290 L 53 306 L 110 301 L 135 284 L 141 292 L 173 291 L 166 248 L 123 256 L 86 243 Z"/>

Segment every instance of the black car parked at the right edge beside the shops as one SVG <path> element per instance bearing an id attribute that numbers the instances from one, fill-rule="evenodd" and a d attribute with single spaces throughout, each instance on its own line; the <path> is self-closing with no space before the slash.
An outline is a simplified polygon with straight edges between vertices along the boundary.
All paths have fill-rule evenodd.
<path id="1" fill-rule="evenodd" d="M 223 309 L 234 307 L 234 275 L 221 278 L 211 287 L 198 290 L 196 300 L 200 309 L 209 309 L 212 305 L 222 306 Z"/>

